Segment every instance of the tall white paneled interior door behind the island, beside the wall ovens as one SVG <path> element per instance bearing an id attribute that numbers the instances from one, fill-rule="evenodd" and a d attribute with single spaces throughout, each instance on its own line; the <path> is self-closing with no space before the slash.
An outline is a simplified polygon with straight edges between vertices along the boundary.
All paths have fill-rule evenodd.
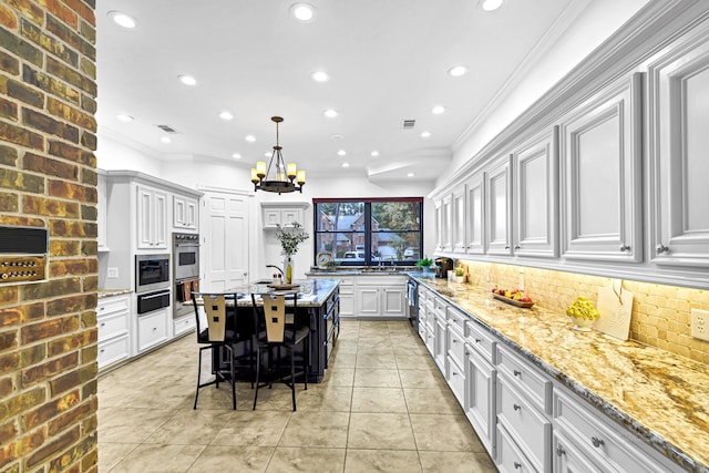
<path id="1" fill-rule="evenodd" d="M 224 290 L 248 280 L 248 196 L 207 191 L 202 199 L 202 290 Z"/>

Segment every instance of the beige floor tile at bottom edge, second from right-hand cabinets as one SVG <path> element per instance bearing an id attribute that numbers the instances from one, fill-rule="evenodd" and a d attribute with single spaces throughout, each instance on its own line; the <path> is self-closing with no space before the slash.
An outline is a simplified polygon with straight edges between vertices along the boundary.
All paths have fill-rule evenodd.
<path id="1" fill-rule="evenodd" d="M 347 449 L 345 473 L 412 473 L 420 471 L 421 463 L 415 450 Z"/>

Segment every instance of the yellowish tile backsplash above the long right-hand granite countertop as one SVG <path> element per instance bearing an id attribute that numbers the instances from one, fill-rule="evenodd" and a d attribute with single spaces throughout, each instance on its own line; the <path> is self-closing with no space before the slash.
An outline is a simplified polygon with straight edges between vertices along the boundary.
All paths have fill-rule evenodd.
<path id="1" fill-rule="evenodd" d="M 514 289 L 521 287 L 540 306 L 565 313 L 578 296 L 597 302 L 598 288 L 610 278 L 576 273 L 461 260 L 470 284 Z M 709 364 L 709 342 L 690 335 L 691 309 L 709 310 L 709 291 L 653 282 L 623 280 L 634 294 L 630 338 Z"/>

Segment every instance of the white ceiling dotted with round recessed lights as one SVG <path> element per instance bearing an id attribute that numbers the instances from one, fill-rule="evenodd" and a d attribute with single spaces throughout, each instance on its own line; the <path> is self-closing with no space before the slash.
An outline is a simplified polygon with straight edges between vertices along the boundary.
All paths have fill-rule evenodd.
<path id="1" fill-rule="evenodd" d="M 296 1 L 97 1 L 99 136 L 162 160 L 247 169 L 268 161 L 270 117 L 280 115 L 284 157 L 309 177 L 433 179 L 525 59 L 553 43 L 548 31 L 576 14 L 574 0 L 506 0 L 493 12 L 477 0 L 308 0 L 316 18 L 301 23 L 290 14 Z M 137 28 L 116 25 L 114 10 Z M 456 64 L 467 74 L 450 76 Z M 314 81 L 315 71 L 330 80 Z M 197 84 L 184 85 L 181 74 Z M 434 105 L 445 112 L 433 114 Z M 339 115 L 328 119 L 326 109 Z M 234 119 L 222 120 L 223 111 Z M 415 125 L 403 130 L 403 120 Z"/>

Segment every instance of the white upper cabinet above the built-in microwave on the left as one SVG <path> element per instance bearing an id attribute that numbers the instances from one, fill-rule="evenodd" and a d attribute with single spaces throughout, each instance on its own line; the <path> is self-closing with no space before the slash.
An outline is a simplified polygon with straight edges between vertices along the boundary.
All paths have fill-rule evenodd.
<path id="1" fill-rule="evenodd" d="M 136 247 L 167 249 L 167 193 L 136 185 Z"/>

